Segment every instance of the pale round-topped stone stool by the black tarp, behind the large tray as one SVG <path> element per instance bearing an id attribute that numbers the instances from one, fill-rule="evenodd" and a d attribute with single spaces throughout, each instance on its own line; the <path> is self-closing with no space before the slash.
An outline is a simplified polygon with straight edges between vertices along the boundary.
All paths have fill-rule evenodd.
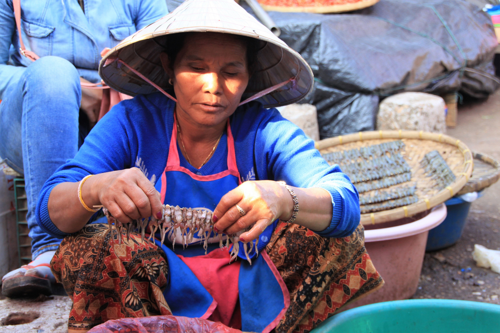
<path id="1" fill-rule="evenodd" d="M 423 92 L 403 92 L 385 98 L 378 106 L 379 130 L 414 130 L 445 133 L 444 100 Z"/>

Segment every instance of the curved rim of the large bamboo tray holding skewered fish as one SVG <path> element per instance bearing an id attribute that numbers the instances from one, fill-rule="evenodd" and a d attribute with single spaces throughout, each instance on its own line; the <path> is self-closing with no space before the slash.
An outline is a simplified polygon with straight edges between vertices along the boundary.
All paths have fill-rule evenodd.
<path id="1" fill-rule="evenodd" d="M 392 131 L 366 131 L 358 132 L 347 135 L 340 135 L 332 138 L 327 138 L 315 142 L 317 150 L 337 146 L 339 144 L 363 141 L 363 140 L 377 140 L 377 139 L 417 139 L 436 141 L 440 143 L 447 143 L 455 146 L 464 158 L 463 169 L 458 175 L 455 174 L 456 179 L 446 188 L 440 190 L 435 195 L 428 199 L 418 200 L 416 203 L 397 207 L 381 212 L 361 214 L 360 223 L 362 225 L 377 224 L 383 222 L 391 222 L 405 217 L 410 217 L 415 214 L 424 212 L 435 207 L 452 196 L 456 195 L 462 187 L 467 183 L 473 168 L 473 155 L 470 149 L 462 141 L 453 138 L 446 134 L 437 134 L 424 131 L 407 131 L 407 130 L 392 130 Z"/>

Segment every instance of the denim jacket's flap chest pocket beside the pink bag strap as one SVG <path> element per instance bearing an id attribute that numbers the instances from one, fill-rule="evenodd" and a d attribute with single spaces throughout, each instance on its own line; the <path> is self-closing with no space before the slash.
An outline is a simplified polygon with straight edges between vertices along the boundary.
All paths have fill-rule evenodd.
<path id="1" fill-rule="evenodd" d="M 40 57 L 52 54 L 52 32 L 55 27 L 22 18 L 21 26 L 22 30 L 26 34 L 26 36 L 22 37 L 26 48 L 35 52 Z M 24 40 L 26 37 L 27 40 Z"/>

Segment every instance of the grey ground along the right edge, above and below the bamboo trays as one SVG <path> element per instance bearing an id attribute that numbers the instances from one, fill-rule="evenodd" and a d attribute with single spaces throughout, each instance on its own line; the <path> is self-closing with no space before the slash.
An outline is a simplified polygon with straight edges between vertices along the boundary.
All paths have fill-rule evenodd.
<path id="1" fill-rule="evenodd" d="M 483 101 L 458 105 L 458 125 L 448 135 L 472 151 L 500 160 L 500 90 Z M 500 304 L 500 274 L 475 266 L 474 244 L 500 250 L 500 183 L 484 191 L 470 207 L 461 239 L 441 251 L 425 254 L 414 298 L 438 298 Z"/>

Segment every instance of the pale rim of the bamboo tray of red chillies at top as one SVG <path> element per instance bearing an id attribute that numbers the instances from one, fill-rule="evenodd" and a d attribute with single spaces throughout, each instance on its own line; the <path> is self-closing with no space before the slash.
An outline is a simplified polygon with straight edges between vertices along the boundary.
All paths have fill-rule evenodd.
<path id="1" fill-rule="evenodd" d="M 356 1 L 356 2 L 347 2 L 346 3 L 339 3 L 339 4 L 333 4 L 329 6 L 319 6 L 319 5 L 314 5 L 314 6 L 296 6 L 296 5 L 290 5 L 290 6 L 275 6 L 275 5 L 269 5 L 266 4 L 268 1 L 266 0 L 257 0 L 262 8 L 265 11 L 282 11 L 282 12 L 313 12 L 313 13 L 334 13 L 334 12 L 344 12 L 344 11 L 351 11 L 351 10 L 357 10 L 357 9 L 362 9 L 366 8 L 369 6 L 374 5 L 377 3 L 379 0 L 361 0 L 361 1 Z"/>

